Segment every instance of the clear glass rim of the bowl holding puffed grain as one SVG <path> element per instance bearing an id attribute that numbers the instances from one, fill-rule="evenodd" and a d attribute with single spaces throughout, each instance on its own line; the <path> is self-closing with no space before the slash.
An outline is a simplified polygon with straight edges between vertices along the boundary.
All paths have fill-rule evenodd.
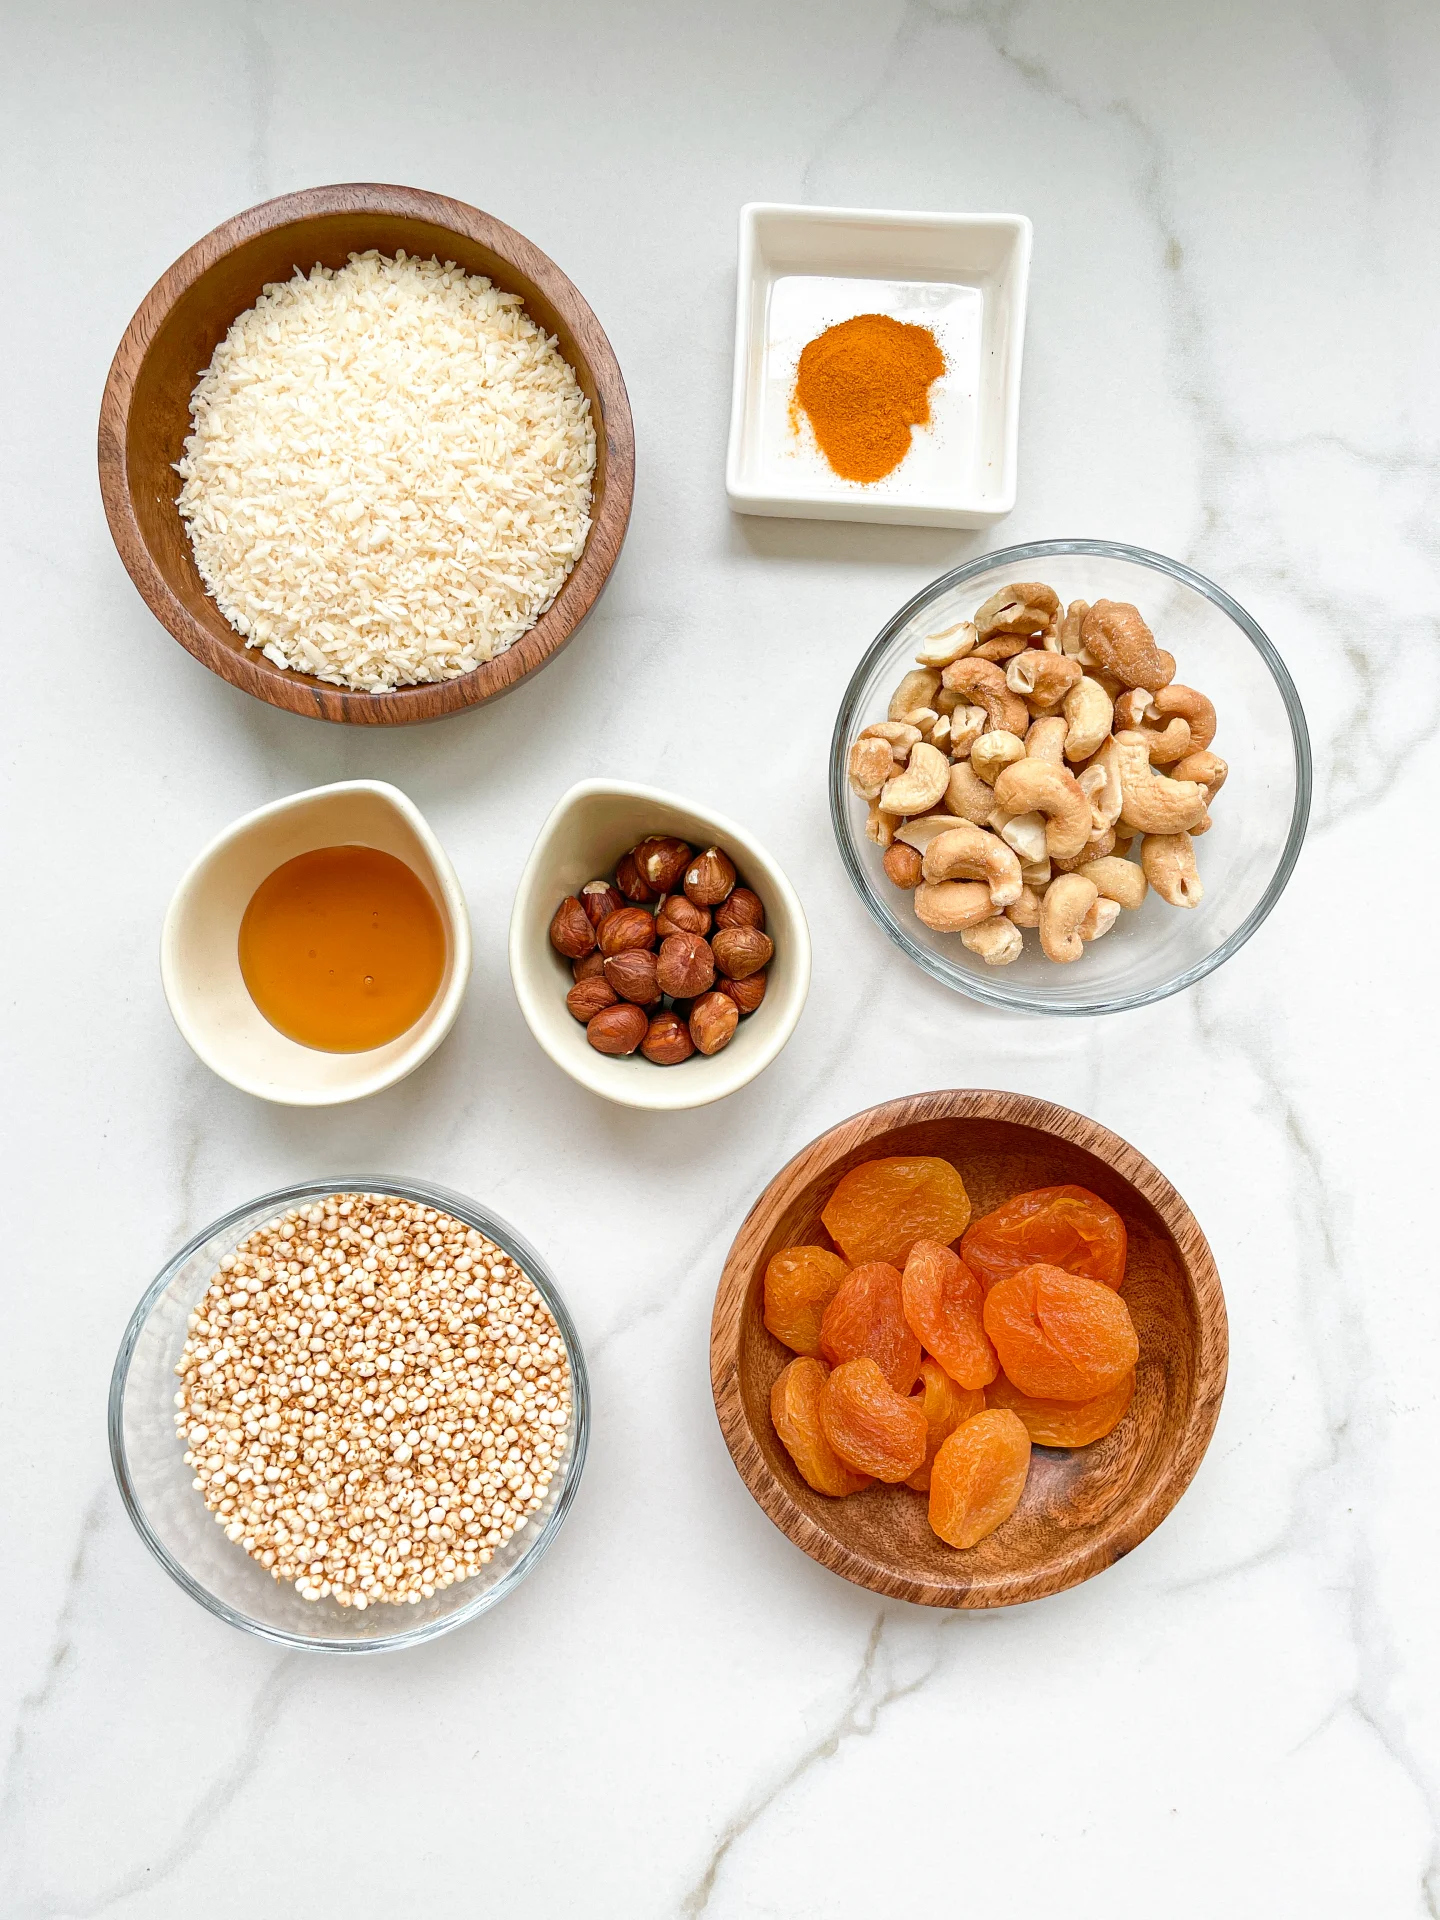
<path id="1" fill-rule="evenodd" d="M 211 1594 L 188 1569 L 184 1569 L 175 1555 L 169 1551 L 165 1542 L 157 1536 L 150 1524 L 150 1517 L 144 1503 L 131 1480 L 131 1463 L 125 1452 L 125 1386 L 131 1373 L 131 1361 L 134 1359 L 134 1348 L 140 1334 L 150 1319 L 159 1296 L 171 1284 L 180 1267 L 194 1254 L 213 1240 L 217 1235 L 232 1233 L 238 1221 L 257 1210 L 275 1210 L 282 1213 L 286 1208 L 300 1206 L 305 1200 L 317 1200 L 332 1192 L 359 1192 L 359 1194 L 384 1194 L 397 1200 L 415 1200 L 419 1206 L 436 1208 L 438 1212 L 453 1213 L 455 1219 L 463 1221 L 467 1227 L 474 1227 L 476 1233 L 486 1235 L 493 1240 L 516 1265 L 524 1271 L 526 1279 L 536 1286 L 543 1298 L 549 1311 L 555 1315 L 555 1325 L 564 1340 L 564 1350 L 570 1359 L 570 1427 L 572 1440 L 566 1450 L 564 1480 L 555 1498 L 555 1505 L 545 1515 L 543 1524 L 536 1532 L 532 1544 L 520 1555 L 520 1559 L 511 1567 L 503 1578 L 495 1580 L 493 1586 L 478 1592 L 470 1601 L 463 1601 L 451 1613 L 442 1615 L 434 1620 L 424 1620 L 419 1626 L 403 1628 L 394 1634 L 382 1634 L 374 1640 L 326 1640 L 309 1634 L 292 1634 L 282 1626 L 269 1626 L 263 1620 L 252 1619 L 238 1607 L 221 1599 L 219 1594 Z M 530 1246 L 530 1242 L 501 1219 L 497 1213 L 490 1213 L 486 1208 L 468 1200 L 465 1194 L 457 1194 L 447 1187 L 436 1187 L 430 1181 L 415 1181 L 409 1177 L 340 1177 L 340 1179 L 315 1179 L 298 1181 L 290 1187 L 276 1187 L 273 1192 L 257 1194 L 253 1200 L 246 1200 L 240 1206 L 228 1208 L 219 1219 L 202 1227 L 194 1233 L 184 1246 L 173 1254 L 165 1265 L 159 1269 L 156 1279 L 146 1286 L 140 1296 L 138 1306 L 131 1313 L 125 1334 L 115 1356 L 115 1365 L 109 1375 L 109 1404 L 106 1413 L 106 1427 L 109 1438 L 109 1465 L 115 1473 L 115 1484 L 119 1486 L 119 1496 L 134 1523 L 134 1530 L 140 1534 L 144 1544 L 156 1555 L 165 1572 L 180 1586 L 192 1599 L 213 1613 L 217 1619 L 227 1620 L 230 1626 L 238 1626 L 240 1632 L 255 1634 L 259 1640 L 269 1640 L 275 1645 L 298 1647 L 303 1653 L 394 1653 L 399 1647 L 419 1647 L 428 1640 L 438 1640 L 442 1634 L 453 1632 L 457 1626 L 465 1626 L 478 1615 L 486 1613 L 497 1601 L 505 1599 L 520 1580 L 540 1563 L 541 1555 L 549 1549 L 551 1540 L 561 1530 L 561 1524 L 574 1503 L 576 1490 L 580 1486 L 580 1475 L 586 1465 L 586 1448 L 589 1444 L 589 1375 L 586 1371 L 586 1356 L 580 1346 L 580 1334 L 576 1332 L 574 1321 L 570 1319 L 570 1309 L 566 1308 L 549 1267 L 540 1258 L 540 1254 Z M 180 1467 L 180 1452 L 177 1446 L 177 1467 Z M 209 1517 L 209 1515 L 207 1515 Z M 242 1549 L 236 1549 L 242 1551 Z"/>

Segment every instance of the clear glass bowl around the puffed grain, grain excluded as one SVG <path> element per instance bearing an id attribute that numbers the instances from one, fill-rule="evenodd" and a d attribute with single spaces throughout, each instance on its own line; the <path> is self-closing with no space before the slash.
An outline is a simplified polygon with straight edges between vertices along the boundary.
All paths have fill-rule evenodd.
<path id="1" fill-rule="evenodd" d="M 459 1580 L 415 1605 L 359 1611 L 332 1599 L 309 1601 L 288 1582 L 275 1580 L 240 1546 L 225 1538 L 200 1494 L 190 1486 L 184 1448 L 175 1430 L 175 1363 L 186 1321 L 227 1254 L 252 1229 L 292 1206 L 334 1192 L 378 1192 L 438 1208 L 474 1227 L 503 1248 L 534 1283 L 570 1359 L 570 1427 L 564 1461 L 543 1503 L 478 1574 Z M 589 1382 L 574 1323 L 536 1250 L 503 1219 L 444 1187 L 419 1181 L 334 1179 L 282 1187 L 234 1208 L 188 1240 L 156 1275 L 131 1315 L 109 1380 L 109 1457 L 121 1500 L 140 1538 L 165 1572 L 202 1607 L 261 1640 L 319 1653 L 388 1653 L 436 1640 L 493 1607 L 536 1567 L 570 1511 L 589 1440 Z M 401 1624 L 403 1622 L 403 1624 Z"/>

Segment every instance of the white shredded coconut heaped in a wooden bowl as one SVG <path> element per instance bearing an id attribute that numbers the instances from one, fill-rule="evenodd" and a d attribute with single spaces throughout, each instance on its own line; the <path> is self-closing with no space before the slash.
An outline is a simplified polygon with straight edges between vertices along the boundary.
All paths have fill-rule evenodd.
<path id="1" fill-rule="evenodd" d="M 518 294 L 353 253 L 267 286 L 177 463 L 207 591 L 276 666 L 453 680 L 545 612 L 589 532 L 595 428 Z"/>

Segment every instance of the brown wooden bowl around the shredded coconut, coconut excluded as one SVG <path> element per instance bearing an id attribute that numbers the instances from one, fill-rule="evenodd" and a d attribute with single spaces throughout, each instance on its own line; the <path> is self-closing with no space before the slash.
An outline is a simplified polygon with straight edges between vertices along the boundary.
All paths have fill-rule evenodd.
<path id="1" fill-rule="evenodd" d="M 390 693 L 332 687 L 273 666 L 246 647 L 205 593 L 184 522 L 175 461 L 190 432 L 190 394 L 236 315 L 271 280 L 315 261 L 403 248 L 453 259 L 518 294 L 559 340 L 589 397 L 595 482 L 586 549 L 547 612 L 505 653 L 455 680 Z M 461 200 L 411 186 L 317 186 L 267 200 L 205 234 L 161 275 L 125 330 L 100 405 L 100 492 L 119 557 L 156 618 L 211 672 L 273 707 L 319 720 L 399 726 L 436 720 L 509 693 L 570 639 L 599 599 L 630 524 L 636 432 L 620 367 L 595 315 L 555 261 L 522 234 Z"/>

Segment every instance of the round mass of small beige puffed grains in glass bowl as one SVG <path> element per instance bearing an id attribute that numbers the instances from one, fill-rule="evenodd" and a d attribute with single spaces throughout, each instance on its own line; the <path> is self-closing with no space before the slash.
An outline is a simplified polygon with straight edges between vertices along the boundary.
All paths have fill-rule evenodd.
<path id="1" fill-rule="evenodd" d="M 570 1361 L 534 1284 L 472 1227 L 386 1194 L 250 1233 L 175 1371 L 192 1484 L 227 1536 L 342 1607 L 478 1572 L 570 1438 Z"/>

